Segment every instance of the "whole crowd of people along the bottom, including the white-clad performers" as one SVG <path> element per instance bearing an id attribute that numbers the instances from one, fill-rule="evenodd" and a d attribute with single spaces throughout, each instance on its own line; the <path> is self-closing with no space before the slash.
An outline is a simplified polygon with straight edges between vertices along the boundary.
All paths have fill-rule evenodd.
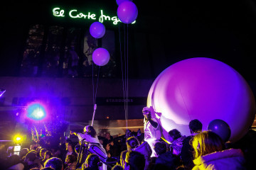
<path id="1" fill-rule="evenodd" d="M 159 125 L 157 120 L 151 119 L 150 109 L 144 108 L 143 113 L 144 135 L 140 130 L 137 133 L 127 130 L 127 134 L 122 137 L 113 138 L 107 132 L 104 138 L 100 138 L 95 129 L 87 125 L 82 133 L 70 131 L 70 135 L 78 137 L 79 143 L 67 139 L 65 144 L 57 148 L 44 148 L 32 143 L 29 149 L 21 149 L 18 155 L 5 159 L 1 157 L 1 169 L 197 170 L 256 167 L 252 161 L 252 152 L 255 152 L 252 141 L 256 133 L 253 130 L 248 132 L 250 150 L 249 142 L 248 147 L 239 142 L 230 145 L 215 132 L 202 131 L 203 125 L 198 119 L 191 120 L 188 125 L 191 135 L 185 136 L 173 129 L 169 131 L 169 142 L 166 142 L 158 137 Z M 88 147 L 83 147 L 85 143 Z"/>

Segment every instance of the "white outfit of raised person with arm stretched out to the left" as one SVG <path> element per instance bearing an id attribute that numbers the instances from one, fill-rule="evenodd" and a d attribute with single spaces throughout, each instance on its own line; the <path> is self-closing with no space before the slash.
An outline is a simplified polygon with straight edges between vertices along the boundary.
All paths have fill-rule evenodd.
<path id="1" fill-rule="evenodd" d="M 85 139 L 86 142 L 97 143 L 97 145 L 101 148 L 101 150 L 103 152 L 105 152 L 105 156 L 107 157 L 107 152 L 105 151 L 104 147 L 100 144 L 100 141 L 97 137 L 92 137 L 91 135 L 88 135 L 87 133 L 78 133 L 78 139 L 80 141 Z M 91 145 L 93 145 L 93 144 L 90 144 L 89 148 L 90 148 Z M 90 149 L 89 149 L 89 151 L 90 151 Z M 97 153 L 93 153 L 93 154 L 97 154 Z M 100 157 L 100 159 L 101 159 L 101 157 Z M 101 160 L 102 160 L 102 162 L 107 161 L 107 159 L 101 159 Z M 100 170 L 107 170 L 107 165 L 103 163 L 102 166 L 99 167 L 99 169 Z"/>

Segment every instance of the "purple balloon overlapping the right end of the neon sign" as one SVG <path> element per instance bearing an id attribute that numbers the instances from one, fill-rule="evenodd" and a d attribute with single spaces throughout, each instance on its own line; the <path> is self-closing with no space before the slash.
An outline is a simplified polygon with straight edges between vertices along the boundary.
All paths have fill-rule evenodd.
<path id="1" fill-rule="evenodd" d="M 132 1 L 124 1 L 117 8 L 117 16 L 123 23 L 132 23 L 138 16 L 138 8 Z"/>

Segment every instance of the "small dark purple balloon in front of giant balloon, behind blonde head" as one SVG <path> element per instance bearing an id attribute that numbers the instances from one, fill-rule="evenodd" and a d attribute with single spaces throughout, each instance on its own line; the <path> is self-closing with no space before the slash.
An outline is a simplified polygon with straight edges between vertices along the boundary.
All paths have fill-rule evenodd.
<path id="1" fill-rule="evenodd" d="M 228 142 L 231 135 L 230 126 L 228 125 L 228 123 L 220 119 L 212 120 L 209 123 L 207 130 L 215 132 L 217 135 L 220 136 L 221 139 L 223 139 L 224 142 Z"/>

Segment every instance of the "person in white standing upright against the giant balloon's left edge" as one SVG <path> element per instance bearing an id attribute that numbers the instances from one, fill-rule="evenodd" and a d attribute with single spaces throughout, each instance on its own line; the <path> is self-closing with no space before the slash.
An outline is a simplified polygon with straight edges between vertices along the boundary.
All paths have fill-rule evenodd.
<path id="1" fill-rule="evenodd" d="M 159 123 L 151 117 L 151 108 L 144 107 L 142 113 L 144 115 L 144 141 L 148 142 L 151 147 L 151 157 L 157 157 L 154 144 L 161 138 Z"/>

